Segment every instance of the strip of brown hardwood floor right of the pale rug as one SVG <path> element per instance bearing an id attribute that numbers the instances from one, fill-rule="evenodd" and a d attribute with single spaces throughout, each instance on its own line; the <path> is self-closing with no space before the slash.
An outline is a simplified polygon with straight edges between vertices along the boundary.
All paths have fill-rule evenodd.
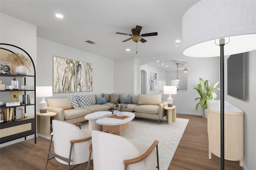
<path id="1" fill-rule="evenodd" d="M 189 119 L 168 170 L 219 170 L 220 158 L 208 158 L 207 119 L 202 116 L 177 114 Z M 239 161 L 225 160 L 225 170 L 243 170 Z"/>

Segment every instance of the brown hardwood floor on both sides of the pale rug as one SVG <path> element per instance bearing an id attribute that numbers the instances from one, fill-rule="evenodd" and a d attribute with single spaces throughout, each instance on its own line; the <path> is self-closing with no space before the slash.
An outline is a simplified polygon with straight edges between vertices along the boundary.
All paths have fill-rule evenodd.
<path id="1" fill-rule="evenodd" d="M 190 119 L 178 148 L 172 158 L 168 170 L 218 170 L 220 158 L 212 155 L 208 158 L 207 119 L 201 116 L 181 115 L 177 117 Z M 44 170 L 49 140 L 43 137 L 29 139 L 0 148 L 1 170 Z M 52 159 L 48 163 L 48 170 L 64 170 L 67 165 Z M 78 166 L 75 170 L 84 170 L 87 162 Z M 161 169 L 161 168 L 160 168 Z M 90 170 L 93 170 L 91 161 Z M 225 170 L 243 170 L 239 161 L 225 160 Z"/>

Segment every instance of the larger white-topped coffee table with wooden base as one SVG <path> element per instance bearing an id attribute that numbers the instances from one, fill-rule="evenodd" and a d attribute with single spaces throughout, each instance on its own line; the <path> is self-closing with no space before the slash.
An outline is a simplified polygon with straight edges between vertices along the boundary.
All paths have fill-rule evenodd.
<path id="1" fill-rule="evenodd" d="M 131 112 L 123 112 L 125 116 L 129 116 L 126 119 L 115 119 L 110 117 L 103 117 L 96 120 L 96 123 L 102 125 L 102 130 L 109 129 L 110 131 L 115 131 L 116 135 L 121 136 L 122 131 L 129 126 L 129 121 L 134 119 L 135 115 Z"/>

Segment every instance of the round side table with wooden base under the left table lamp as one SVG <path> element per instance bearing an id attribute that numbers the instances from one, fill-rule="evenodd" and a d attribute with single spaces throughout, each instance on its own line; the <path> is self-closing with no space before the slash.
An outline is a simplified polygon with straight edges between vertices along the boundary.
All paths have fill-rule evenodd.
<path id="1" fill-rule="evenodd" d="M 55 116 L 57 113 L 52 111 L 47 111 L 46 113 L 37 112 L 37 132 L 44 135 L 50 135 L 51 133 L 51 117 Z"/>

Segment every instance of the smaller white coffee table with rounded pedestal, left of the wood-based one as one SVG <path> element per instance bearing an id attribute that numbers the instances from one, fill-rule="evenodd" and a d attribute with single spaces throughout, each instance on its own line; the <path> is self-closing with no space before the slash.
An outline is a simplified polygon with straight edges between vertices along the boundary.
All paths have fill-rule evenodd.
<path id="1" fill-rule="evenodd" d="M 97 111 L 84 116 L 84 119 L 88 120 L 88 129 L 102 131 L 102 125 L 96 123 L 97 119 L 112 115 L 111 111 Z"/>

